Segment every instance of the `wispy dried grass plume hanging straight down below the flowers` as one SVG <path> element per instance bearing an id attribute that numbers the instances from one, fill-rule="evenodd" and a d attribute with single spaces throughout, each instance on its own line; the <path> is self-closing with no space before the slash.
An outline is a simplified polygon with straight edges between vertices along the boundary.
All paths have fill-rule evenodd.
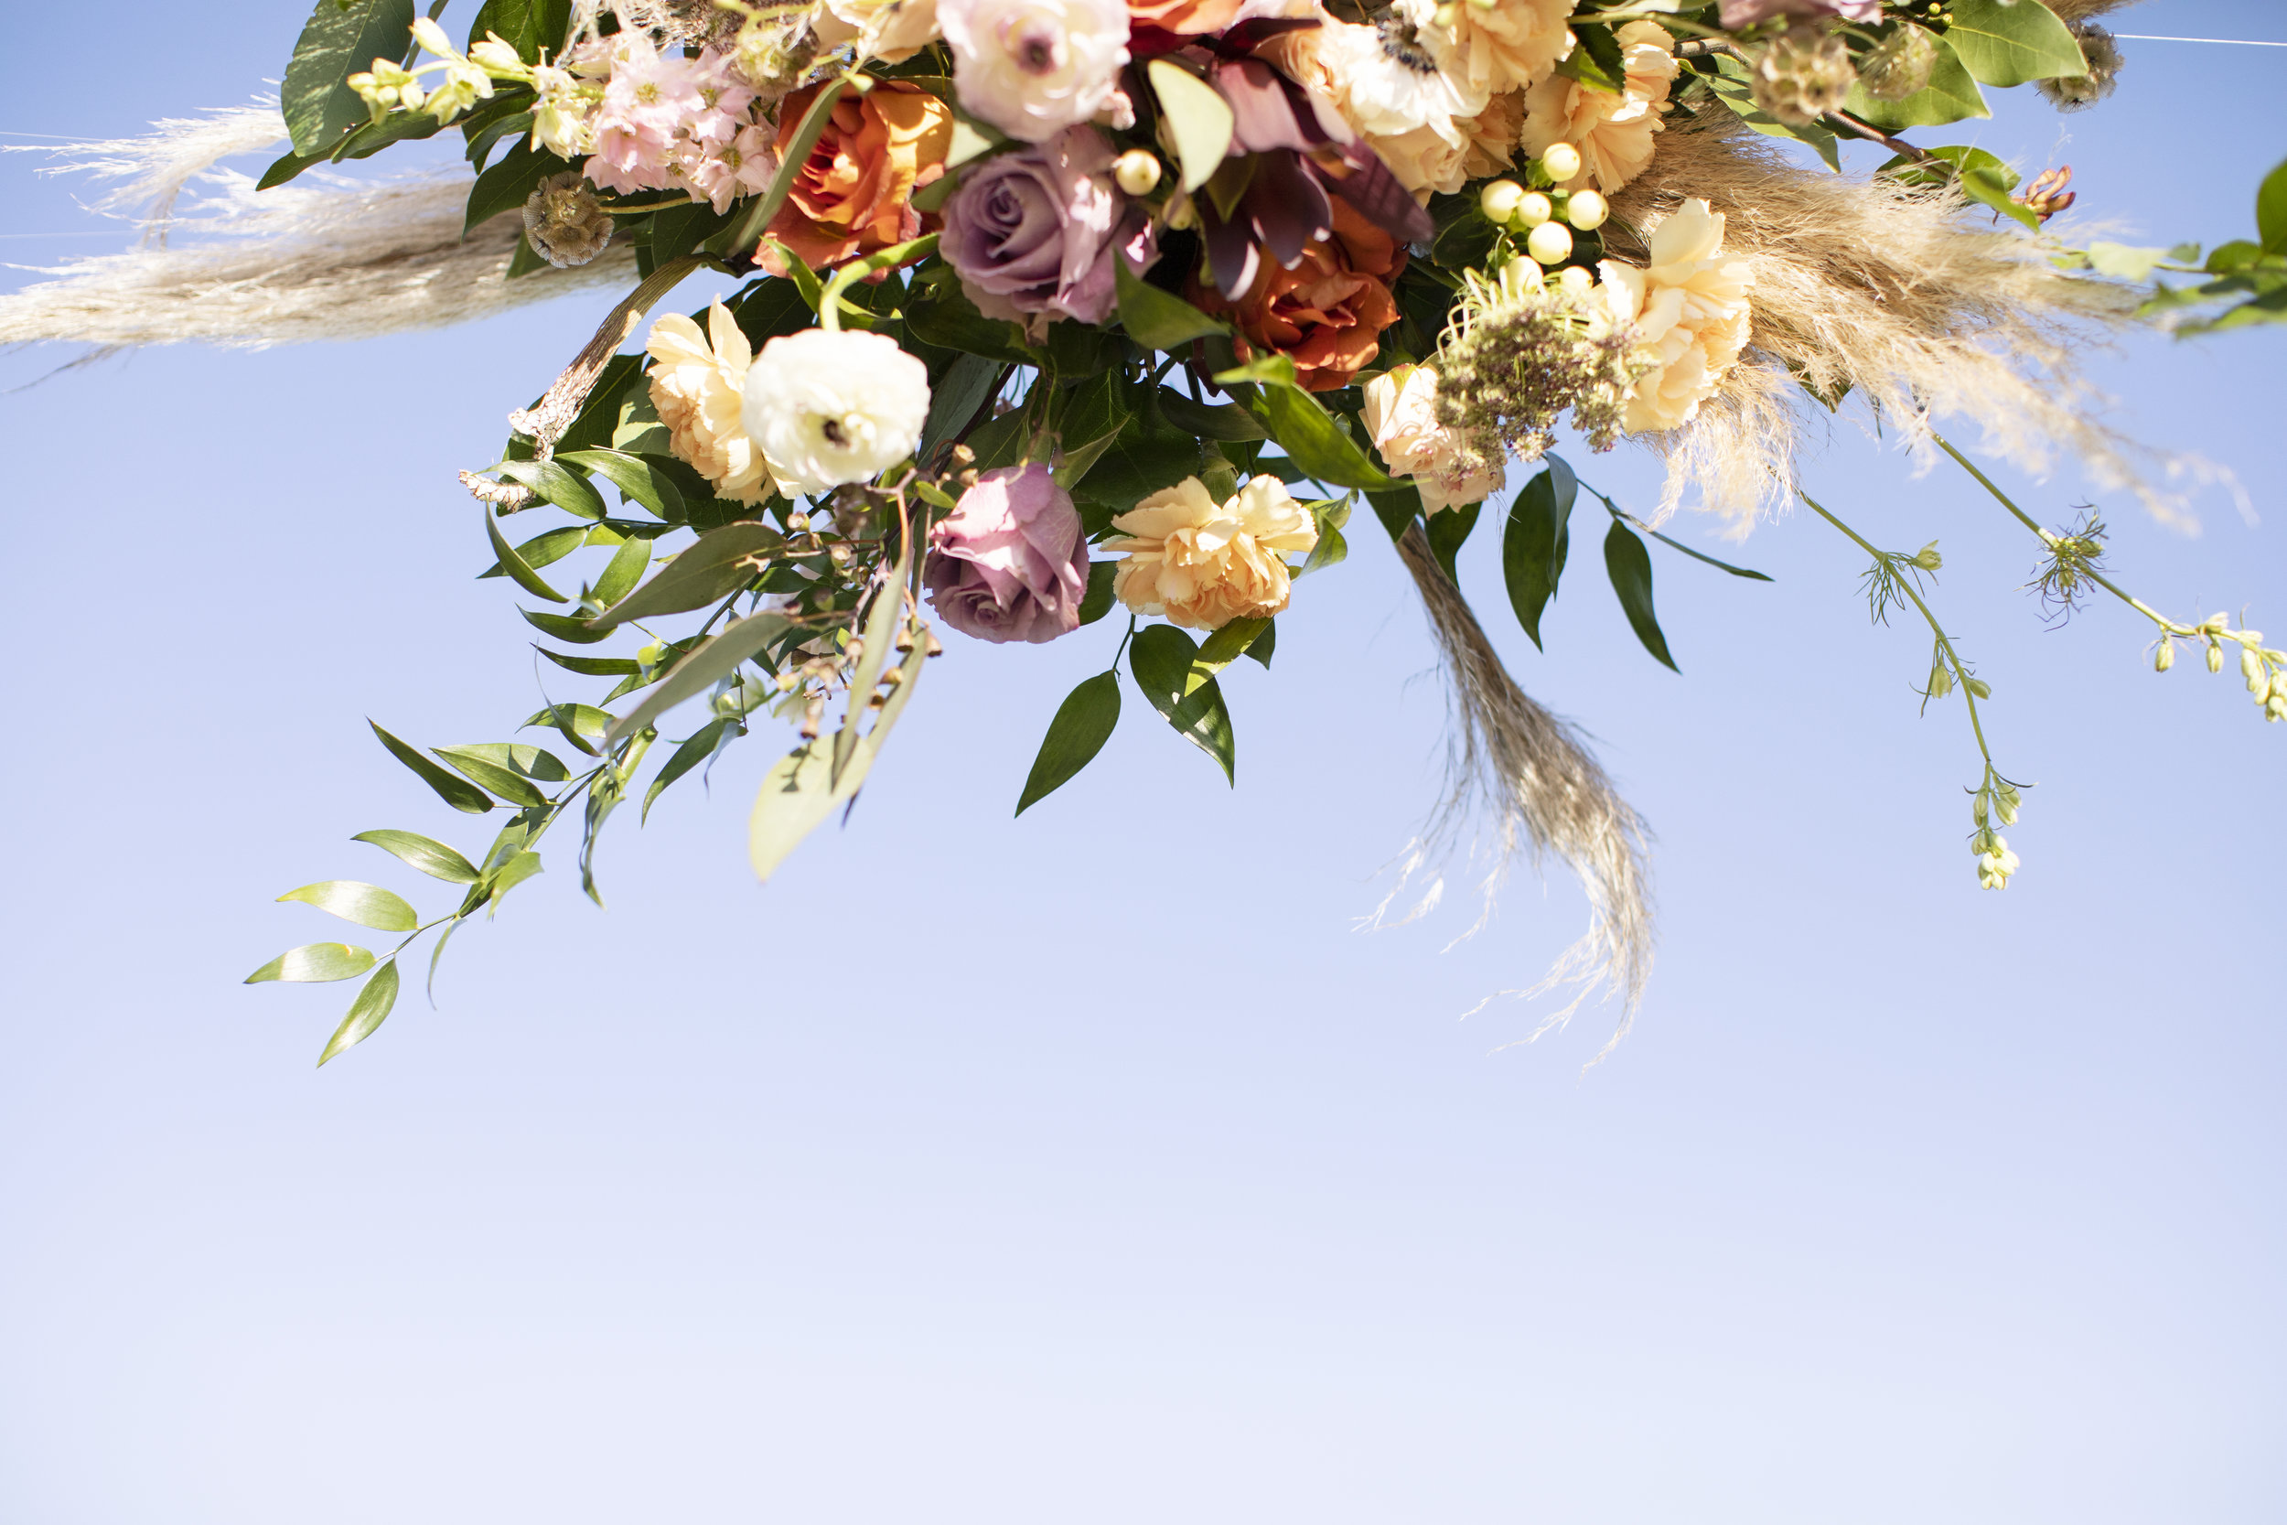
<path id="1" fill-rule="evenodd" d="M 1599 985 L 1605 999 L 1621 997 L 1619 1024 L 1596 1054 L 1603 1059 L 1635 1020 L 1644 981 L 1651 976 L 1644 823 L 1612 789 L 1612 780 L 1580 745 L 1573 727 L 1535 704 L 1500 665 L 1475 610 L 1436 565 L 1418 524 L 1400 537 L 1397 556 L 1429 615 L 1429 631 L 1436 636 L 1450 684 L 1452 713 L 1445 796 L 1423 835 L 1409 844 L 1397 887 L 1368 917 L 1368 926 L 1386 926 L 1390 903 L 1407 894 L 1418 876 L 1427 876 L 1427 885 L 1413 910 L 1395 924 L 1425 915 L 1443 894 L 1443 864 L 1477 857 L 1477 846 L 1484 846 L 1484 857 L 1491 860 L 1480 883 L 1484 905 L 1475 926 L 1461 933 L 1468 937 L 1491 919 L 1500 885 L 1519 857 L 1539 862 L 1544 853 L 1555 853 L 1587 892 L 1587 935 L 1567 949 L 1537 985 L 1503 995 L 1530 999 L 1555 988 L 1573 990 L 1573 999 L 1544 1017 L 1532 1038 L 1571 1020 Z M 1473 841 L 1480 823 L 1489 832 L 1489 844 Z"/>

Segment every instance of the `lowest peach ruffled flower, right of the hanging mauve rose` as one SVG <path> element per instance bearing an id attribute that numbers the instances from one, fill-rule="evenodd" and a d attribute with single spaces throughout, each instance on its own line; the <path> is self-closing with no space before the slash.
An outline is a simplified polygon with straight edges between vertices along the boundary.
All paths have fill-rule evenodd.
<path id="1" fill-rule="evenodd" d="M 1166 615 L 1196 631 L 1267 620 L 1288 604 L 1285 556 L 1317 544 L 1317 524 L 1274 476 L 1217 503 L 1196 476 L 1150 494 L 1111 521 L 1105 542 L 1125 553 L 1111 592 L 1139 615 Z"/>

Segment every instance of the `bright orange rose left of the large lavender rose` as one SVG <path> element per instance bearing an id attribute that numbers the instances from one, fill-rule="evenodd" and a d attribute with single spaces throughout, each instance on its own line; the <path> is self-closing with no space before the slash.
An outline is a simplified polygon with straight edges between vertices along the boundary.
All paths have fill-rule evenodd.
<path id="1" fill-rule="evenodd" d="M 780 103 L 778 121 L 787 133 L 816 94 L 812 85 Z M 766 235 L 812 270 L 919 238 L 938 219 L 913 210 L 913 192 L 945 174 L 951 146 L 954 114 L 917 85 L 874 80 L 862 96 L 844 94 Z M 784 274 L 768 242 L 757 261 Z"/>

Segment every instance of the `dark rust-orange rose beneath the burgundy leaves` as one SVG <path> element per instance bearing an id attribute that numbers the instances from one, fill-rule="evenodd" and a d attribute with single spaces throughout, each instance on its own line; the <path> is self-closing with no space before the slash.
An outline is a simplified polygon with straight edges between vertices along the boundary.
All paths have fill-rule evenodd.
<path id="1" fill-rule="evenodd" d="M 1262 274 L 1237 300 L 1192 277 L 1192 302 L 1240 325 L 1240 359 L 1251 350 L 1285 354 L 1308 391 L 1349 386 L 1374 354 L 1381 329 L 1397 322 L 1390 281 L 1407 268 L 1395 238 L 1333 199 L 1333 238 L 1313 242 L 1292 270 L 1262 254 Z"/>

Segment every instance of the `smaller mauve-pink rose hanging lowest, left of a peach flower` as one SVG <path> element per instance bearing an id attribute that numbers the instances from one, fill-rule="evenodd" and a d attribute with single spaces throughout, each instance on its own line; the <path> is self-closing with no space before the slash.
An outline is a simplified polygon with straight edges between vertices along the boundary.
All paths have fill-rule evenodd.
<path id="1" fill-rule="evenodd" d="M 1054 640 L 1079 629 L 1089 537 L 1047 466 L 986 471 L 929 533 L 929 601 L 963 636 Z"/>

